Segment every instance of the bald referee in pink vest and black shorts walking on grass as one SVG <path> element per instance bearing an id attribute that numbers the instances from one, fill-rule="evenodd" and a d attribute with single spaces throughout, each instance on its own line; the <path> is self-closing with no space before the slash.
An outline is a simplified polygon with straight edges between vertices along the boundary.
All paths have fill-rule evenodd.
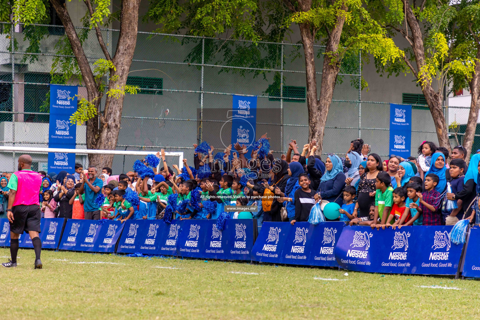
<path id="1" fill-rule="evenodd" d="M 6 268 L 17 266 L 18 238 L 28 232 L 35 250 L 35 269 L 42 269 L 40 252 L 42 240 L 40 232 L 40 187 L 42 177 L 32 171 L 32 157 L 23 154 L 18 158 L 18 171 L 12 174 L 8 182 L 10 195 L 8 197 L 7 218 L 10 221 L 10 254 L 12 260 L 2 263 Z"/>

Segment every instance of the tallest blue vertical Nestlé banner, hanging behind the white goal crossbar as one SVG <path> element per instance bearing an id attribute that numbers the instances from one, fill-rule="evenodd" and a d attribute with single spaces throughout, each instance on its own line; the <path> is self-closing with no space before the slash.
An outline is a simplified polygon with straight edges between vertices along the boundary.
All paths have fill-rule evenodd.
<path id="1" fill-rule="evenodd" d="M 77 94 L 77 86 L 50 84 L 49 148 L 75 149 L 77 125 L 70 123 L 70 116 L 77 111 Z M 74 153 L 48 153 L 48 172 L 74 169 Z"/>

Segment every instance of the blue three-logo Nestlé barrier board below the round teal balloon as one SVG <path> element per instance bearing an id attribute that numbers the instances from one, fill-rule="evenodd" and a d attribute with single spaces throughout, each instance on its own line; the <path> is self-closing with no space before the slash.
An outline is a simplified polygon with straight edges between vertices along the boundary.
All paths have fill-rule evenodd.
<path id="1" fill-rule="evenodd" d="M 252 260 L 337 267 L 334 248 L 344 226 L 344 222 L 264 222 L 253 245 Z"/>

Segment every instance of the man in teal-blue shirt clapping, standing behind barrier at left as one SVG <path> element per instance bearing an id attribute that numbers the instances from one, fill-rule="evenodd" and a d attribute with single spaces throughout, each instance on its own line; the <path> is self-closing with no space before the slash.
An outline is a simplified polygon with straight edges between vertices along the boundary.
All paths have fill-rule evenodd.
<path id="1" fill-rule="evenodd" d="M 80 187 L 80 194 L 85 192 L 84 213 L 86 220 L 100 220 L 100 210 L 95 204 L 96 195 L 103 187 L 103 181 L 96 178 L 96 167 L 88 168 L 88 178 L 82 173 L 82 186 Z M 86 184 L 86 186 L 85 186 Z"/>

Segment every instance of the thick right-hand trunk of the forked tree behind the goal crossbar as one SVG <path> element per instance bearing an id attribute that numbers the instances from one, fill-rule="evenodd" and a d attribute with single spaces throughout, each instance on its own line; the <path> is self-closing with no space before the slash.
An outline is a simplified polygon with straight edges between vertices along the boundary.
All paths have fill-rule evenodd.
<path id="1" fill-rule="evenodd" d="M 113 57 L 113 69 L 110 72 L 110 78 L 118 76 L 117 81 L 108 83 L 108 89 L 122 88 L 127 83 L 128 72 L 132 65 L 133 53 L 137 43 L 138 31 L 138 10 L 140 0 L 124 0 L 120 12 L 120 35 Z M 106 97 L 105 109 L 100 117 L 100 129 L 98 132 L 91 128 L 87 128 L 87 142 L 95 142 L 94 149 L 99 150 L 115 150 L 120 133 L 121 113 L 123 109 L 123 98 Z M 91 119 L 94 120 L 94 119 Z M 98 126 L 98 123 L 89 120 L 87 126 Z M 113 155 L 111 154 L 89 154 L 88 160 L 90 166 L 96 166 L 97 169 L 112 166 Z"/>

